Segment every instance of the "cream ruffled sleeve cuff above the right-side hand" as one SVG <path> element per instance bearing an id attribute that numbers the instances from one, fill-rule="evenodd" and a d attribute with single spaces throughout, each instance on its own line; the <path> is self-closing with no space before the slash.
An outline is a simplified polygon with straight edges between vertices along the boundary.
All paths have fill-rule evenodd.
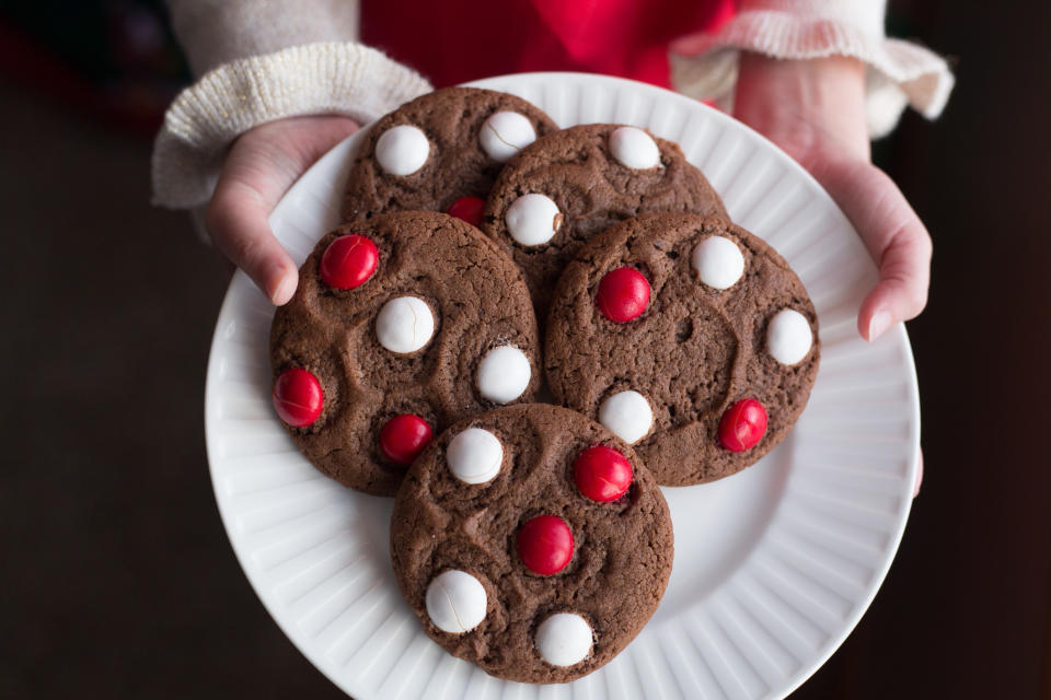
<path id="1" fill-rule="evenodd" d="M 865 106 L 873 138 L 889 133 L 906 105 L 928 119 L 942 114 L 954 84 L 948 65 L 926 48 L 886 38 L 880 3 L 869 5 L 876 5 L 878 13 L 852 13 L 842 7 L 840 12 L 821 11 L 836 3 L 804 2 L 821 5 L 812 12 L 786 9 L 792 2 L 766 4 L 775 7 L 746 9 L 714 34 L 695 34 L 673 43 L 674 88 L 730 109 L 742 50 L 784 59 L 851 56 L 867 66 Z"/>

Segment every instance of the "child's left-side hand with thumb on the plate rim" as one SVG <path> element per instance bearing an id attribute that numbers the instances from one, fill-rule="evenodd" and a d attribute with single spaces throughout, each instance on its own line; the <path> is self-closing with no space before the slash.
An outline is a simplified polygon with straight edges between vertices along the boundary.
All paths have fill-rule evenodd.
<path id="1" fill-rule="evenodd" d="M 292 298 L 299 272 L 270 231 L 270 211 L 314 161 L 357 130 L 347 117 L 293 117 L 245 131 L 230 149 L 205 228 L 278 306 Z"/>

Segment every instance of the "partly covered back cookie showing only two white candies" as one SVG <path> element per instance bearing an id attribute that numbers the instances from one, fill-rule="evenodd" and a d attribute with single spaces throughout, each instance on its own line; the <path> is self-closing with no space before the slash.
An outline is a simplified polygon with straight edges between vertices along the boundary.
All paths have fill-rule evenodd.
<path id="1" fill-rule="evenodd" d="M 540 138 L 508 163 L 483 230 L 524 271 L 543 323 L 558 276 L 580 246 L 651 211 L 726 215 L 678 144 L 635 127 L 592 124 Z"/>

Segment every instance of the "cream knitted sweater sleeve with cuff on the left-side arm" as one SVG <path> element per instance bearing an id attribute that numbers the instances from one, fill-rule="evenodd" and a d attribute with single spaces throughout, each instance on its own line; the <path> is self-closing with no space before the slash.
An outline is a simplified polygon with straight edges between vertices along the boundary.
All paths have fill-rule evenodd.
<path id="1" fill-rule="evenodd" d="M 238 136 L 285 117 L 340 114 L 365 124 L 430 83 L 358 44 L 345 0 L 170 0 L 199 78 L 169 107 L 153 144 L 153 202 L 204 205 Z"/>

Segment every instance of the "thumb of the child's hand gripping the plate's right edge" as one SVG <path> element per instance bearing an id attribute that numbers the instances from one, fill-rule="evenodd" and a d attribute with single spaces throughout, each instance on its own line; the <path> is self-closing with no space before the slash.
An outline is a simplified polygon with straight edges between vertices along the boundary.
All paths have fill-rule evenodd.
<path id="1" fill-rule="evenodd" d="M 931 236 L 893 180 L 878 167 L 848 162 L 816 176 L 843 209 L 879 265 L 879 283 L 857 314 L 857 330 L 875 340 L 892 324 L 914 318 L 927 303 Z"/>

